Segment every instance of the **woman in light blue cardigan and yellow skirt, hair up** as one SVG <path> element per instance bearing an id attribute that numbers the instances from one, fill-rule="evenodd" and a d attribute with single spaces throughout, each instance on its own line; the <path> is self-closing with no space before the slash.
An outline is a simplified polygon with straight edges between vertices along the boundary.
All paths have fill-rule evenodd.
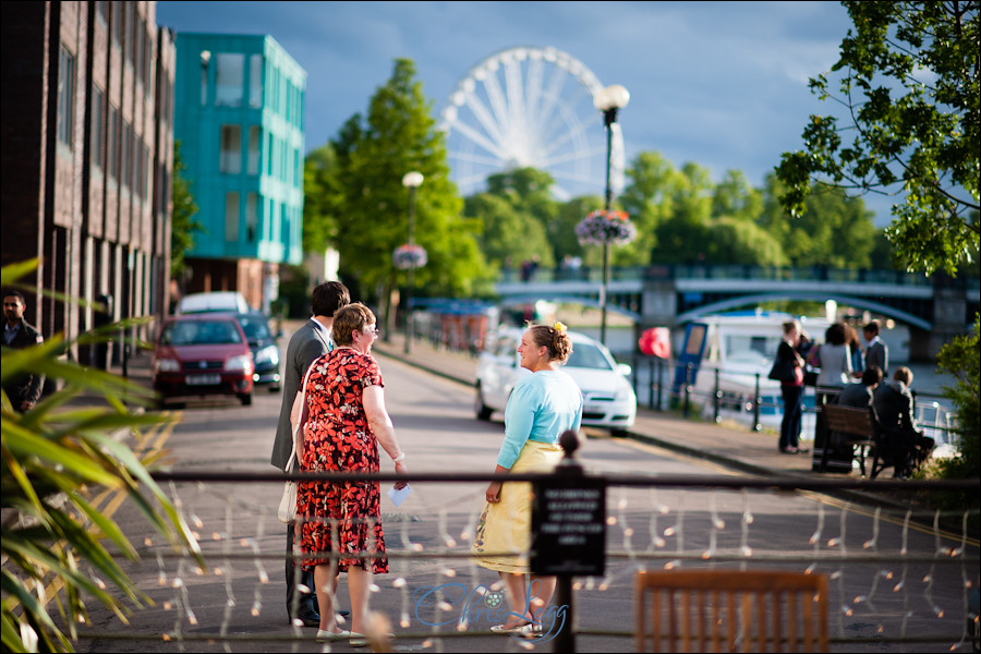
<path id="1" fill-rule="evenodd" d="M 561 461 L 559 436 L 579 432 L 582 391 L 559 367 L 572 353 L 566 326 L 528 328 L 518 347 L 525 375 L 511 391 L 505 408 L 505 440 L 495 473 L 546 472 Z M 479 566 L 495 570 L 507 589 L 511 613 L 492 631 L 533 635 L 543 631 L 542 609 L 555 592 L 555 577 L 529 573 L 532 488 L 529 482 L 492 482 L 481 513 L 471 554 Z M 519 556 L 494 556 L 513 552 Z"/>

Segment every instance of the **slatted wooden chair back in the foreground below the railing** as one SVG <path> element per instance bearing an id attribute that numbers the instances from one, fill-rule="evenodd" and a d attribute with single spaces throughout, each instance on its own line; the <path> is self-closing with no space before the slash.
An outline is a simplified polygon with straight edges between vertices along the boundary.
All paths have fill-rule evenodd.
<path id="1" fill-rule="evenodd" d="M 638 572 L 638 652 L 826 652 L 827 577 Z"/>

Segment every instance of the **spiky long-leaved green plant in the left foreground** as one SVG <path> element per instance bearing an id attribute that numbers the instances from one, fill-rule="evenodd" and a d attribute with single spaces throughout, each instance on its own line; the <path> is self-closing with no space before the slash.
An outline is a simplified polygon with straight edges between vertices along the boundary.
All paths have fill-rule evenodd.
<path id="1" fill-rule="evenodd" d="M 33 270 L 37 261 L 8 266 L 2 286 Z M 110 325 L 78 339 L 80 344 L 113 338 L 136 320 Z M 154 431 L 171 424 L 170 416 L 141 413 L 153 391 L 102 371 L 84 368 L 60 354 L 60 337 L 23 350 L 2 349 L 0 377 L 5 383 L 24 371 L 41 373 L 63 383 L 61 390 L 34 409 L 17 413 L 7 393 L 0 398 L 3 459 L 0 505 L 4 511 L 0 550 L 3 556 L 3 609 L 0 631 L 4 652 L 71 652 L 80 623 L 88 623 L 86 601 L 98 602 L 125 621 L 126 603 L 144 605 L 148 598 L 123 571 L 106 547 L 135 559 L 136 549 L 120 526 L 93 502 L 93 488 L 110 488 L 129 496 L 147 521 L 175 548 L 204 559 L 190 529 L 173 504 L 148 473 L 153 459 L 137 457 L 119 431 Z M 83 404 L 73 403 L 86 396 Z M 93 405 L 99 397 L 104 405 Z M 8 520 L 8 511 L 19 518 Z M 63 592 L 48 597 L 45 588 L 60 581 Z M 110 586 L 120 591 L 116 596 Z M 58 607 L 56 623 L 49 604 Z"/>

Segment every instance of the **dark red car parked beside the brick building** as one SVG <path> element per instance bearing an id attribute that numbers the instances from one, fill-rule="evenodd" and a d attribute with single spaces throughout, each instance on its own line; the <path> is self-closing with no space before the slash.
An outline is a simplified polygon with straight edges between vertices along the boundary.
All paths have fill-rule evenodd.
<path id="1" fill-rule="evenodd" d="M 172 316 L 164 323 L 152 365 L 161 405 L 178 397 L 233 395 L 252 403 L 255 362 L 234 314 Z"/>

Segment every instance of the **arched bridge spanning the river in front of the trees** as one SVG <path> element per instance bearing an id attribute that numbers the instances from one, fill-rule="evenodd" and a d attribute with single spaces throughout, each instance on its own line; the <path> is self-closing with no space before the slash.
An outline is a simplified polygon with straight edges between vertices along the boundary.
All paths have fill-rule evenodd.
<path id="1" fill-rule="evenodd" d="M 537 269 L 528 279 L 507 271 L 495 290 L 502 305 L 537 300 L 600 306 L 602 270 Z M 836 268 L 670 265 L 613 268 L 608 311 L 634 320 L 638 332 L 677 327 L 699 316 L 779 300 L 834 300 L 910 328 L 910 358 L 930 360 L 967 331 L 981 311 L 977 277 Z"/>

